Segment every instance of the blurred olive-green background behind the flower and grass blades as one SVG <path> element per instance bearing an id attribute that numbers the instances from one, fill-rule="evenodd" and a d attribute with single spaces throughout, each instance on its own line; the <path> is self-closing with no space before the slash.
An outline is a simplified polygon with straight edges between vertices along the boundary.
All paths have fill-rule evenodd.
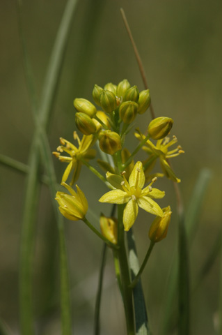
<path id="1" fill-rule="evenodd" d="M 50 125 L 51 151 L 58 138 L 72 140 L 73 99 L 93 101 L 93 85 L 114 84 L 127 78 L 143 89 L 143 82 L 120 16 L 125 9 L 148 76 L 157 116 L 172 117 L 173 133 L 185 154 L 173 159 L 185 208 L 202 168 L 212 179 L 207 188 L 198 231 L 190 251 L 191 283 L 214 246 L 221 230 L 221 22 L 222 2 L 212 0 L 85 0 L 79 1 L 68 43 L 63 73 Z M 25 1 L 23 24 L 35 87 L 40 96 L 51 48 L 65 1 Z M 1 1 L 1 154 L 27 163 L 34 123 L 24 80 L 15 1 Z M 142 131 L 150 121 L 139 118 Z M 132 136 L 129 149 L 136 146 Z M 143 156 L 138 156 L 142 159 Z M 54 159 L 58 181 L 65 165 Z M 95 162 L 96 165 L 96 162 Z M 97 199 L 106 188 L 83 169 L 78 185 L 88 195 L 96 215 L 109 214 L 109 204 Z M 164 311 L 162 301 L 173 255 L 177 250 L 177 214 L 171 181 L 159 181 L 166 191 L 161 207 L 171 204 L 173 219 L 164 241 L 155 246 L 143 274 L 145 299 L 153 334 L 158 334 Z M 18 269 L 25 177 L 0 165 L 0 315 L 12 334 L 19 334 Z M 97 225 L 93 216 L 89 215 Z M 38 334 L 60 334 L 58 236 L 49 191 L 42 186 L 36 228 L 34 270 L 35 320 Z M 152 217 L 140 213 L 134 232 L 142 261 L 148 248 Z M 84 223 L 65 222 L 68 244 L 74 334 L 93 334 L 93 309 L 102 242 Z M 102 334 L 125 334 L 122 301 L 109 252 L 102 296 Z M 219 257 L 191 297 L 192 334 L 216 334 L 219 303 Z M 175 301 L 175 306 L 177 302 Z M 173 333 L 172 333 L 173 334 Z"/>

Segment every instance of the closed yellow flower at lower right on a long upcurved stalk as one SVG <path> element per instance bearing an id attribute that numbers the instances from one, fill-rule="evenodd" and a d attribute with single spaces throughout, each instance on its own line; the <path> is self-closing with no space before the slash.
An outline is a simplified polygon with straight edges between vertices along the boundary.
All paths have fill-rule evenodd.
<path id="1" fill-rule="evenodd" d="M 154 243 L 157 243 L 166 237 L 168 225 L 171 221 L 171 207 L 168 206 L 163 208 L 163 212 L 164 216 L 157 216 L 150 227 L 149 237 Z"/>

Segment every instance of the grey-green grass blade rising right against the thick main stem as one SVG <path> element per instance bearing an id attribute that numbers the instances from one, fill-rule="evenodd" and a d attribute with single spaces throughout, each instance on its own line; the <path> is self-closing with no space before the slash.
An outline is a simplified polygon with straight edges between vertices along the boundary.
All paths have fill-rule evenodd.
<path id="1" fill-rule="evenodd" d="M 132 229 L 127 232 L 127 242 L 129 248 L 129 267 L 131 270 L 132 281 L 136 277 L 139 271 L 138 257 L 136 253 L 136 244 L 134 239 L 134 233 Z M 134 313 L 136 323 L 136 335 L 150 335 L 150 327 L 148 324 L 148 315 L 146 312 L 145 299 L 143 295 L 143 288 L 141 279 L 138 280 L 134 289 Z"/>

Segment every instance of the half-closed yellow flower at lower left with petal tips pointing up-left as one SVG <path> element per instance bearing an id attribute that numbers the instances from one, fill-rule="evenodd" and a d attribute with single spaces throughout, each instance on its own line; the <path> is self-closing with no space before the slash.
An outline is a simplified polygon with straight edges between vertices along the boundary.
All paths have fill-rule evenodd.
<path id="1" fill-rule="evenodd" d="M 58 209 L 61 214 L 72 221 L 85 218 L 88 211 L 88 202 L 83 191 L 77 186 L 76 193 L 68 184 L 61 183 L 61 185 L 65 186 L 71 194 L 59 191 L 56 193 L 56 201 L 59 204 Z"/>

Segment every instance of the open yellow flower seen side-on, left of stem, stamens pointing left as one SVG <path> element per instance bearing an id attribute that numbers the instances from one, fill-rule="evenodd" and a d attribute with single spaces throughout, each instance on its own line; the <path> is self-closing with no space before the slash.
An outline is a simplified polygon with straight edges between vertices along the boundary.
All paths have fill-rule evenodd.
<path id="1" fill-rule="evenodd" d="M 95 142 L 95 138 L 93 135 L 84 135 L 81 140 L 79 140 L 79 136 L 77 135 L 77 132 L 74 131 L 73 133 L 74 140 L 77 140 L 79 144 L 79 148 L 75 147 L 74 144 L 71 142 L 65 140 L 64 138 L 60 138 L 60 142 L 62 145 L 60 145 L 57 148 L 57 151 L 54 151 L 53 154 L 56 156 L 60 161 L 69 163 L 67 168 L 65 169 L 65 172 L 63 174 L 62 181 L 67 181 L 70 173 L 72 172 L 72 181 L 70 182 L 70 185 L 73 185 L 75 181 L 79 178 L 79 173 L 81 171 L 81 158 L 88 161 L 90 159 L 95 158 L 96 151 L 95 149 L 90 149 L 90 147 L 93 146 Z M 65 151 L 68 156 L 61 156 L 61 153 Z"/>

